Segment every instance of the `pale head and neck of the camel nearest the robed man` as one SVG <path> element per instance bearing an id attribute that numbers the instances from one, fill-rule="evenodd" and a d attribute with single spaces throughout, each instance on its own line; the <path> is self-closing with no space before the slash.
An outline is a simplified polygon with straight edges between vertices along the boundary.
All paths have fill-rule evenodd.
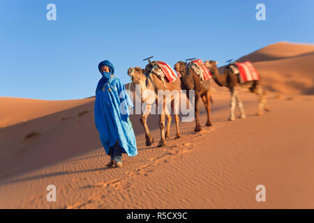
<path id="1" fill-rule="evenodd" d="M 147 93 L 147 77 L 144 75 L 145 70 L 139 67 L 128 68 L 128 75 L 131 77 L 131 81 L 135 86 L 135 92 L 140 93 L 142 102 L 146 101 L 149 97 Z M 139 88 L 140 91 L 136 91 Z"/>

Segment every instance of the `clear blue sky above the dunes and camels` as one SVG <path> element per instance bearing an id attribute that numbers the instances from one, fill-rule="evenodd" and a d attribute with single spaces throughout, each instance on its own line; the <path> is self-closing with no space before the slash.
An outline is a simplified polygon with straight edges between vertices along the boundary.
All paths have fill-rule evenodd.
<path id="1" fill-rule="evenodd" d="M 57 6 L 48 21 L 46 6 Z M 266 21 L 257 21 L 257 3 Z M 122 82 L 145 57 L 228 59 L 278 41 L 314 43 L 313 0 L 0 0 L 0 96 L 68 100 L 95 95 L 98 63 Z"/>

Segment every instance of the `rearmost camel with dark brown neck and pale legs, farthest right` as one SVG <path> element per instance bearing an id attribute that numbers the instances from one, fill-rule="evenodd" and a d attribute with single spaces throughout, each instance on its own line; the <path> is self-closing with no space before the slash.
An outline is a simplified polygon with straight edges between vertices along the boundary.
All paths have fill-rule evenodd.
<path id="1" fill-rule="evenodd" d="M 262 115 L 263 109 L 267 112 L 270 111 L 268 107 L 266 92 L 264 91 L 264 89 L 262 89 L 262 86 L 260 86 L 260 83 L 258 81 L 248 81 L 248 82 L 240 83 L 238 75 L 234 74 L 229 67 L 226 67 L 223 75 L 220 75 L 217 68 L 216 61 L 205 61 L 204 63 L 205 63 L 205 66 L 209 68 L 209 71 L 213 75 L 214 81 L 219 86 L 226 86 L 230 90 L 230 93 L 231 93 L 230 116 L 228 120 L 230 121 L 235 120 L 234 109 L 236 105 L 239 106 L 240 113 L 241 113 L 239 118 L 246 118 L 243 104 L 237 94 L 237 92 L 240 89 L 249 89 L 251 93 L 255 93 L 256 95 L 258 95 L 259 103 L 258 103 L 257 115 Z"/>

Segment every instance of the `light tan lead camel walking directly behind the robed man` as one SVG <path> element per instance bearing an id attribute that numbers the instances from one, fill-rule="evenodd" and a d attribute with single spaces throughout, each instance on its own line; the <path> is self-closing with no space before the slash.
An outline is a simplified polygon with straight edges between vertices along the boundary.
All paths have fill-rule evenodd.
<path id="1" fill-rule="evenodd" d="M 154 92 L 156 105 L 158 106 L 158 91 L 159 90 L 169 90 L 170 92 L 173 90 L 177 90 L 177 92 L 181 93 L 181 81 L 178 78 L 174 82 L 163 82 L 160 78 L 154 75 L 153 66 L 148 64 L 145 69 L 135 67 L 135 68 L 128 68 L 128 75 L 131 77 L 131 81 L 134 85 L 140 85 L 140 93 L 141 93 L 141 100 L 142 102 L 146 102 L 149 99 L 149 94 L 147 94 L 146 90 L 151 90 Z M 145 76 L 144 74 L 149 74 Z M 170 139 L 170 123 L 171 123 L 171 116 L 167 110 L 167 106 L 165 105 L 165 96 L 163 96 L 163 111 L 160 114 L 159 120 L 159 128 L 160 128 L 160 141 L 158 147 L 166 146 L 165 138 Z M 174 97 L 171 95 L 171 106 L 172 109 L 174 108 Z M 147 126 L 147 116 L 151 113 L 151 104 L 147 103 L 145 107 L 145 111 L 140 118 L 140 122 L 144 126 L 145 137 L 146 137 L 146 145 L 151 146 L 154 143 L 154 139 L 149 132 L 149 128 Z M 165 132 L 165 116 L 167 116 L 167 130 Z M 179 132 L 179 116 L 178 114 L 174 114 L 176 128 L 177 128 L 177 135 L 174 139 L 180 139 L 181 134 Z"/>

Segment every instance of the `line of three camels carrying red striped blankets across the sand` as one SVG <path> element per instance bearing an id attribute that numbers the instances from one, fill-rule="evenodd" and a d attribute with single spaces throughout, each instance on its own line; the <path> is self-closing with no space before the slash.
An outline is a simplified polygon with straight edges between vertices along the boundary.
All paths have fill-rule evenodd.
<path id="1" fill-rule="evenodd" d="M 236 105 L 240 109 L 240 117 L 246 118 L 244 106 L 238 97 L 237 92 L 240 89 L 249 89 L 251 93 L 258 96 L 257 115 L 262 115 L 263 110 L 269 112 L 267 96 L 260 86 L 260 76 L 250 61 L 245 63 L 230 63 L 225 67 L 224 73 L 220 75 L 216 61 L 202 61 L 201 59 L 187 59 L 186 62 L 178 61 L 174 64 L 174 70 L 163 61 L 150 61 L 153 56 L 144 59 L 148 61 L 147 66 L 142 69 L 139 67 L 128 68 L 128 75 L 134 86 L 138 86 L 140 98 L 145 103 L 144 113 L 140 118 L 140 122 L 144 127 L 146 145 L 151 146 L 154 139 L 147 125 L 147 117 L 151 114 L 152 102 L 156 102 L 158 111 L 160 111 L 159 128 L 160 141 L 158 147 L 166 146 L 166 139 L 170 139 L 171 111 L 167 103 L 170 103 L 171 110 L 178 111 L 178 103 L 175 103 L 174 95 L 171 94 L 169 100 L 165 100 L 165 95 L 158 97 L 160 91 L 177 92 L 177 96 L 181 98 L 181 92 L 186 93 L 186 98 L 190 105 L 194 106 L 195 116 L 195 132 L 200 132 L 200 112 L 199 102 L 202 99 L 207 112 L 207 126 L 211 126 L 211 103 L 213 102 L 211 94 L 212 79 L 218 86 L 225 86 L 230 90 L 230 116 L 229 121 L 234 121 L 234 109 Z M 183 90 L 183 91 L 182 91 Z M 150 93 L 147 93 L 150 92 Z M 190 92 L 194 93 L 191 97 Z M 151 101 L 151 102 L 149 102 Z M 158 103 L 159 101 L 159 103 Z M 167 117 L 167 129 L 165 130 L 165 117 Z M 177 128 L 175 139 L 181 138 L 179 132 L 179 116 L 174 112 L 174 118 Z"/>

